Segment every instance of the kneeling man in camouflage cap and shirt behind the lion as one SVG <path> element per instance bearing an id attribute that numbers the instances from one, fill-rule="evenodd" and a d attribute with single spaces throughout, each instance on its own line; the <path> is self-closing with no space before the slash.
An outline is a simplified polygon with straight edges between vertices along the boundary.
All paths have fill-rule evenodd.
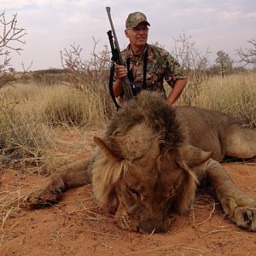
<path id="1" fill-rule="evenodd" d="M 123 95 L 123 79 L 127 75 L 135 85 L 136 93 L 141 90 L 159 90 L 166 95 L 163 86 L 164 79 L 166 79 L 172 87 L 171 93 L 166 96 L 166 101 L 172 105 L 187 84 L 182 68 L 166 50 L 147 44 L 150 24 L 143 13 L 135 12 L 128 15 L 125 26 L 125 36 L 130 44 L 122 52 L 125 67 L 116 67 L 116 80 L 113 84 L 114 96 Z"/>

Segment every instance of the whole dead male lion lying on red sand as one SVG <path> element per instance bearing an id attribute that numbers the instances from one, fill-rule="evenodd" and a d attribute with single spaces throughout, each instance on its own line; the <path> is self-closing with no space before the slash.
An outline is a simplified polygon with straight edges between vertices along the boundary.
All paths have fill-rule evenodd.
<path id="1" fill-rule="evenodd" d="M 29 207 L 58 201 L 71 187 L 92 183 L 98 204 L 114 213 L 123 230 L 168 230 L 172 212 L 187 212 L 199 184 L 207 183 L 224 215 L 256 230 L 256 200 L 231 180 L 219 162 L 225 156 L 256 156 L 256 130 L 217 111 L 171 107 L 156 92 L 143 91 L 94 137 L 92 157 L 53 173 L 26 199 Z"/>

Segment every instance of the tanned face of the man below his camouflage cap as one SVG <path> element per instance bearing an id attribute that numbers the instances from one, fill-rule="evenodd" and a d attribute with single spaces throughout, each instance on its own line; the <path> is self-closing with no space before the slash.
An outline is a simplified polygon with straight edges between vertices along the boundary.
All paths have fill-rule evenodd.
<path id="1" fill-rule="evenodd" d="M 147 44 L 148 40 L 148 26 L 146 23 L 141 23 L 136 27 L 127 28 L 125 35 L 130 40 L 132 47 L 142 47 Z"/>

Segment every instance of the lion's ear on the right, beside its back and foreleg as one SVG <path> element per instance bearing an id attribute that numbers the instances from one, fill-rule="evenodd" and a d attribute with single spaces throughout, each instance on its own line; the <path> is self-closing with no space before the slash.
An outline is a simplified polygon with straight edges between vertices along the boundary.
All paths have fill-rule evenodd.
<path id="1" fill-rule="evenodd" d="M 194 167 L 205 162 L 211 157 L 212 152 L 203 151 L 192 145 L 185 145 L 178 148 L 178 162 L 183 162 L 187 166 Z"/>

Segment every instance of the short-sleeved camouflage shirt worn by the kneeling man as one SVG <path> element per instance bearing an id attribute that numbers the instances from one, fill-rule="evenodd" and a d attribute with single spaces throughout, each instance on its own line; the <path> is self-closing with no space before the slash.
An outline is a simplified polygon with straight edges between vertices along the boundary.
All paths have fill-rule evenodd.
<path id="1" fill-rule="evenodd" d="M 144 55 L 148 49 L 146 89 L 147 90 L 164 90 L 164 79 L 173 87 L 177 79 L 185 79 L 182 67 L 177 60 L 172 57 L 165 49 L 147 44 L 143 54 L 134 55 L 130 44 L 122 51 L 123 60 L 130 59 L 130 69 L 133 73 L 134 84 L 141 90 L 143 89 L 143 64 Z"/>

